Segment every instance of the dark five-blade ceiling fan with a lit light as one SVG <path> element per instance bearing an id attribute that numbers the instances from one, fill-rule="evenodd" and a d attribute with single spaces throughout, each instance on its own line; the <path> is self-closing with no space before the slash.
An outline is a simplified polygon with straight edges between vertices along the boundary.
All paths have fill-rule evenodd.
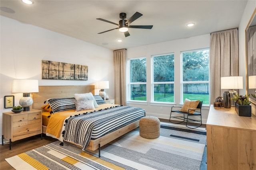
<path id="1" fill-rule="evenodd" d="M 133 14 L 133 16 L 131 18 L 129 18 L 128 20 L 124 20 L 126 18 L 126 13 L 120 13 L 119 14 L 119 17 L 122 19 L 119 21 L 119 24 L 118 23 L 114 23 L 114 22 L 111 22 L 111 21 L 108 21 L 108 20 L 104 20 L 102 18 L 96 18 L 97 20 L 100 20 L 100 21 L 105 21 L 105 22 L 108 22 L 108 23 L 112 23 L 114 25 L 118 25 L 118 28 L 114 28 L 114 29 L 119 29 L 120 32 L 123 32 L 125 37 L 128 37 L 130 34 L 128 32 L 128 28 L 142 28 L 142 29 L 151 29 L 153 27 L 153 25 L 130 25 L 130 23 L 132 23 L 133 21 L 137 20 L 138 18 L 140 18 L 142 16 L 142 14 L 140 14 L 139 12 L 136 12 L 135 14 Z M 103 31 L 101 33 L 105 33 L 105 32 L 108 32 L 108 31 L 112 31 L 114 29 L 110 29 L 110 30 L 107 30 L 107 31 Z M 98 33 L 98 34 L 101 34 L 101 33 Z"/>

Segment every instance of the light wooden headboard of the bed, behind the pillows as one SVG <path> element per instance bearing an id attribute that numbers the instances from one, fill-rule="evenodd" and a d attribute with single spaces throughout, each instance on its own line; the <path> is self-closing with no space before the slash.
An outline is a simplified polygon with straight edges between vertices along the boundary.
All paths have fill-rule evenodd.
<path id="1" fill-rule="evenodd" d="M 42 110 L 44 101 L 49 98 L 73 98 L 74 94 L 89 93 L 94 95 L 94 85 L 86 86 L 39 86 L 39 92 L 33 93 L 33 109 Z"/>

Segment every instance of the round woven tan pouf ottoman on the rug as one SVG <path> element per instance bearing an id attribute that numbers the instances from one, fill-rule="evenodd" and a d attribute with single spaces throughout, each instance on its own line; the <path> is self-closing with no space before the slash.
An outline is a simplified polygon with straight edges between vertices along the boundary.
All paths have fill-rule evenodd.
<path id="1" fill-rule="evenodd" d="M 146 116 L 140 119 L 140 136 L 154 139 L 160 136 L 160 120 L 154 116 Z"/>

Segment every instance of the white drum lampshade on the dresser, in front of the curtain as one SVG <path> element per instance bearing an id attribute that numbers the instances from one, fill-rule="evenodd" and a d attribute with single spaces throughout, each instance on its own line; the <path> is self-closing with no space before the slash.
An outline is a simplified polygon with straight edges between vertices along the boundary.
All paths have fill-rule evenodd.
<path id="1" fill-rule="evenodd" d="M 243 77 L 242 76 L 230 76 L 220 78 L 221 89 L 242 89 Z"/>

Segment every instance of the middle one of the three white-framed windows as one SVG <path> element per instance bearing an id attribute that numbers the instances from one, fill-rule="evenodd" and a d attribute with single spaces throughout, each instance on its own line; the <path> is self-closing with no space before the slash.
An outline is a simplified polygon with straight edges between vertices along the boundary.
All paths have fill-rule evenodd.
<path id="1" fill-rule="evenodd" d="M 152 101 L 174 102 L 174 54 L 152 56 Z"/>

